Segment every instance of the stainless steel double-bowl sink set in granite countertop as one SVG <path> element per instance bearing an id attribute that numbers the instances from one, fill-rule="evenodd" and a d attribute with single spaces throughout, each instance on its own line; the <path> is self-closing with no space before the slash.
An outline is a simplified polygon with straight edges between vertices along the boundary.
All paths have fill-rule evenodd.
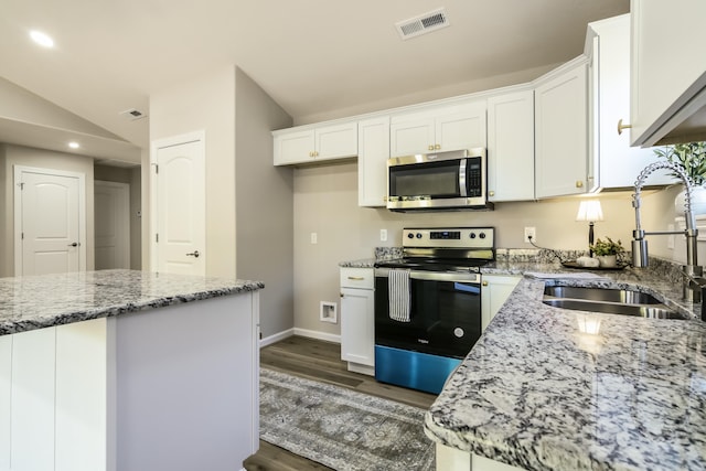
<path id="1" fill-rule="evenodd" d="M 681 312 L 667 308 L 652 295 L 622 289 L 548 286 L 544 289 L 542 302 L 555 308 L 578 311 L 649 319 L 686 319 Z"/>

